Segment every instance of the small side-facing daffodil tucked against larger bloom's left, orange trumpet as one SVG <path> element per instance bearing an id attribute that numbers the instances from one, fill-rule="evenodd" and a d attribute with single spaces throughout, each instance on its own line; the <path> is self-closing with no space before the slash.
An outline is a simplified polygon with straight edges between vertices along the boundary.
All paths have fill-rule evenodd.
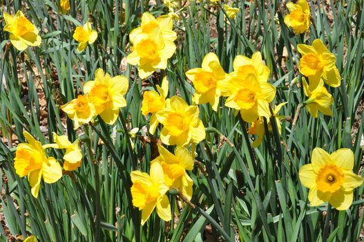
<path id="1" fill-rule="evenodd" d="M 86 95 L 78 95 L 76 99 L 62 105 L 61 110 L 75 122 L 75 129 L 78 129 L 82 124 L 87 124 L 95 116 L 93 105 L 88 101 Z"/>

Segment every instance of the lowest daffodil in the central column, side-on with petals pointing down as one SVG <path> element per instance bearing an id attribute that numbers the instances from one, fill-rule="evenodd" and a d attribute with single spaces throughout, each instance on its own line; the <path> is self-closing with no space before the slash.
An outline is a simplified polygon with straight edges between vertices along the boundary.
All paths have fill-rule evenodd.
<path id="1" fill-rule="evenodd" d="M 131 195 L 133 205 L 142 210 L 142 225 L 157 207 L 157 214 L 164 221 L 171 220 L 171 205 L 166 196 L 169 187 L 164 183 L 164 173 L 159 162 L 151 162 L 150 175 L 141 171 L 131 171 Z"/>

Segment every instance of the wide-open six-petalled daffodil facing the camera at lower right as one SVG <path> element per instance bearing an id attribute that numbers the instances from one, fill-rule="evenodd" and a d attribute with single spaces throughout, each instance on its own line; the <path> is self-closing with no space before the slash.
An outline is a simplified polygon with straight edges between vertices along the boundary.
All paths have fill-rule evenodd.
<path id="1" fill-rule="evenodd" d="M 301 183 L 309 188 L 309 203 L 318 206 L 329 202 L 336 210 L 347 210 L 353 201 L 353 190 L 363 178 L 353 173 L 354 153 L 338 149 L 332 154 L 316 147 L 312 163 L 300 168 Z"/>

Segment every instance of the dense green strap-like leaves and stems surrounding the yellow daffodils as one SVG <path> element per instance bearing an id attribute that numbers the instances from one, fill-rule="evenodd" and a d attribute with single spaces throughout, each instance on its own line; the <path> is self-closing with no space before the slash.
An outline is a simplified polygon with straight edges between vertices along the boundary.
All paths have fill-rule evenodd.
<path id="1" fill-rule="evenodd" d="M 184 72 L 199 67 L 209 51 L 215 51 L 224 70 L 231 72 L 236 55 L 250 57 L 260 50 L 271 70 L 269 82 L 277 88 L 274 104 L 288 102 L 280 114 L 293 118 L 306 98 L 299 82 L 294 83 L 299 59 L 296 45 L 320 38 L 337 56 L 343 77 L 341 87 L 328 89 L 334 96 L 333 117 L 314 119 L 302 109 L 296 127 L 282 122 L 281 136 L 274 129 L 253 149 L 246 124 L 223 108 L 223 102 L 217 113 L 200 105 L 207 138 L 198 144 L 196 159 L 208 176 L 197 166 L 190 173 L 194 180 L 191 202 L 197 207 L 184 204 L 178 210 L 180 199 L 169 195 L 177 215 L 171 222 L 174 226 L 153 214 L 141 227 L 140 212 L 131 204 L 129 174 L 138 168 L 148 171 L 153 158 L 153 144 L 142 142 L 149 136 L 142 129 L 149 120 L 140 107 L 142 92 L 160 84 L 162 77 L 155 75 L 142 82 L 134 75 L 135 68 L 127 66 L 122 71 L 122 66 L 129 53 L 128 33 L 139 26 L 142 12 L 159 16 L 168 10 L 160 0 L 156 5 L 136 0 L 75 0 L 68 15 L 59 15 L 58 1 L 2 1 L 1 12 L 23 10 L 39 28 L 43 41 L 39 48 L 19 53 L 8 45 L 0 17 L 0 214 L 4 218 L 0 240 L 6 241 L 10 232 L 23 238 L 35 234 L 39 241 L 202 241 L 206 225 L 211 225 L 213 238 L 224 241 L 358 240 L 363 224 L 363 216 L 359 216 L 363 186 L 354 191 L 349 210 L 327 212 L 327 205 L 309 207 L 308 190 L 299 182 L 298 169 L 310 162 L 314 147 L 328 152 L 348 147 L 354 151 L 354 172 L 361 167 L 363 124 L 359 120 L 363 115 L 357 109 L 364 91 L 364 1 L 311 1 L 312 26 L 306 35 L 293 35 L 285 26 L 286 10 L 281 1 L 236 0 L 240 13 L 233 21 L 224 18 L 218 6 L 211 8 L 209 1 L 200 2 L 186 3 L 181 10 L 184 17 L 175 23 L 178 50 L 165 72 L 170 96 L 178 93 L 191 104 L 193 86 Z M 88 19 L 99 37 L 78 54 L 73 30 Z M 53 131 L 75 140 L 78 134 L 73 123 L 67 120 L 64 125 L 59 106 L 75 98 L 82 83 L 93 80 L 99 67 L 129 78 L 128 106 L 121 109 L 115 127 L 102 121 L 85 127 L 82 167 L 55 184 L 42 183 L 39 198 L 33 198 L 28 180 L 15 174 L 15 147 L 6 140 L 15 134 L 24 142 L 23 129 L 43 143 Z M 39 98 L 39 93 L 44 97 Z M 44 107 L 47 124 L 41 127 Z M 128 131 L 134 127 L 140 132 L 133 140 L 133 151 Z M 233 146 L 224 142 L 224 137 Z M 93 152 L 88 152 L 90 149 Z M 61 152 L 52 152 L 61 160 Z"/>

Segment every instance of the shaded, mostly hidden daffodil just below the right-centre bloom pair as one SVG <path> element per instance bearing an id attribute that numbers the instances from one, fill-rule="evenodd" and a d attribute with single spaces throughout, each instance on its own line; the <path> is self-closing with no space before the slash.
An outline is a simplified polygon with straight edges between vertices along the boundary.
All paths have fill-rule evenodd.
<path id="1" fill-rule="evenodd" d="M 280 115 L 278 115 L 278 112 L 285 104 L 287 104 L 287 102 L 282 102 L 281 104 L 278 104 L 274 109 L 274 117 L 276 118 L 278 133 L 281 133 L 282 129 L 282 127 L 280 126 Z M 268 131 L 272 131 L 270 119 L 267 119 L 267 126 Z M 256 140 L 254 140 L 251 145 L 253 145 L 253 147 L 258 147 L 262 143 L 263 137 L 265 135 L 265 125 L 262 117 L 259 117 L 258 120 L 251 123 L 251 127 L 249 127 L 248 133 L 257 136 Z"/>

